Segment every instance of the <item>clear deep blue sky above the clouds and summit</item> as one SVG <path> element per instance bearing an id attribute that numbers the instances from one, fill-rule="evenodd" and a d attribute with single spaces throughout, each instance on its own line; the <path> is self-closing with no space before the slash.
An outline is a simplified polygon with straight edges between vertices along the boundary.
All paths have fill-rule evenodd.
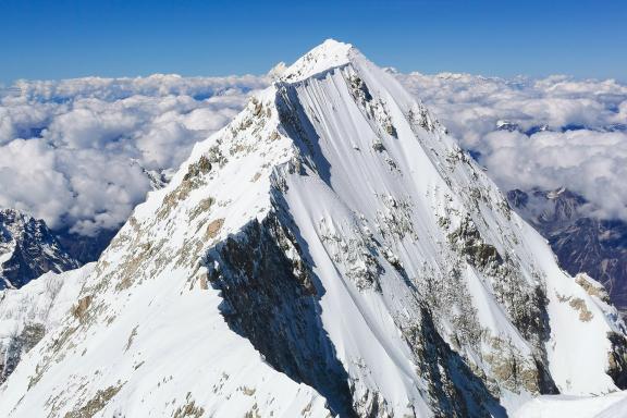
<path id="1" fill-rule="evenodd" d="M 0 0 L 0 83 L 261 74 L 323 39 L 401 71 L 627 81 L 625 0 Z"/>

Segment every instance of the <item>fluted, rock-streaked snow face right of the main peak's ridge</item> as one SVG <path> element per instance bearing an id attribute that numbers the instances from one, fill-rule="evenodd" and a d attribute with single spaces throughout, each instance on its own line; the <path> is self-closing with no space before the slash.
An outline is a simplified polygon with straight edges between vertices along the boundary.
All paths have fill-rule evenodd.
<path id="1" fill-rule="evenodd" d="M 390 373 L 386 357 L 420 364 L 420 354 L 401 354 L 415 346 L 408 334 L 427 304 L 446 343 L 501 388 L 497 397 L 615 389 L 605 373 L 606 333 L 622 333 L 615 310 L 562 272 L 425 108 L 353 51 L 348 65 L 280 86 L 279 107 L 312 172 L 287 176 L 287 211 L 323 287 L 337 288 L 322 297 L 322 319 L 349 352 L 348 373 L 368 382 Z M 352 321 L 339 325 L 342 317 Z M 346 347 L 353 341 L 362 343 Z M 395 377 L 370 388 L 402 405 L 419 379 Z"/>

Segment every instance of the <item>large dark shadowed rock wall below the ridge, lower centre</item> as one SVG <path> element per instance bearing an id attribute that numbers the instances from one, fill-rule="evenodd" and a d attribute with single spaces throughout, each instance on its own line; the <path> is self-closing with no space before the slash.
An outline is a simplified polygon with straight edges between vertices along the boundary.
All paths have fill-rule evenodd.
<path id="1" fill-rule="evenodd" d="M 274 369 L 321 393 L 334 414 L 355 416 L 347 373 L 320 319 L 323 288 L 276 212 L 253 221 L 206 256 L 230 327 Z"/>

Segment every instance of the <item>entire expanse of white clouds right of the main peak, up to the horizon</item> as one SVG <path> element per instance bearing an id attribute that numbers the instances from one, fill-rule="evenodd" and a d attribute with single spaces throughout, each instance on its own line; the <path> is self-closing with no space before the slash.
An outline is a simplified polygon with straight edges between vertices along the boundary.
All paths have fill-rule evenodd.
<path id="1" fill-rule="evenodd" d="M 627 85 L 613 79 L 396 74 L 503 189 L 566 186 L 627 220 Z"/>

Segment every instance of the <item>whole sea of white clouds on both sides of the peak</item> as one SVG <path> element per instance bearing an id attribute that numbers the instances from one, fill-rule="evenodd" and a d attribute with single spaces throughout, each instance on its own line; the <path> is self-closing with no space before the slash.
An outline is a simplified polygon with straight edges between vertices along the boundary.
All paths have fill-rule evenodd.
<path id="1" fill-rule="evenodd" d="M 399 74 L 505 189 L 566 186 L 627 219 L 627 86 Z M 0 207 L 91 235 L 116 228 L 267 76 L 79 78 L 0 90 Z"/>

